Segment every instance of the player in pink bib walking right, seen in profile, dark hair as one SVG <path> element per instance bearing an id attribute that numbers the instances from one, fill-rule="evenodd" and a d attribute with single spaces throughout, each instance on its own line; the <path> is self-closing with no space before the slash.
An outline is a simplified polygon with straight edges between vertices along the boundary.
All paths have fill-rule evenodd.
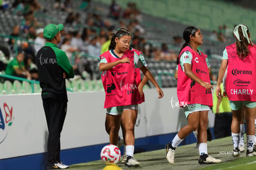
<path id="1" fill-rule="evenodd" d="M 166 145 L 166 159 L 173 164 L 176 147 L 197 129 L 200 155 L 198 163 L 220 163 L 221 160 L 208 156 L 207 152 L 208 111 L 213 105 L 213 99 L 206 62 L 207 55 L 198 51 L 198 46 L 203 43 L 203 36 L 197 27 L 188 26 L 183 32 L 183 39 L 185 44 L 177 59 L 177 97 L 180 106 L 185 110 L 188 124 L 182 127 L 174 139 Z"/>

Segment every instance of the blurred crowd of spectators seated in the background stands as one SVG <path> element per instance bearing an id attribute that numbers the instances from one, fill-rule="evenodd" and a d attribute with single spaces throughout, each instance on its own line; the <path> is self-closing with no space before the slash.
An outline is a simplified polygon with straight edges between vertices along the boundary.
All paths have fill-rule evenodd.
<path id="1" fill-rule="evenodd" d="M 102 52 L 101 47 L 108 41 L 109 34 L 114 33 L 117 28 L 126 27 L 132 33 L 132 47 L 142 51 L 146 59 L 175 62 L 179 49 L 184 43 L 180 35 L 173 35 L 173 44 L 163 42 L 159 46 L 153 46 L 149 43 L 148 39 L 145 39 L 147 28 L 143 28 L 141 25 L 143 22 L 142 12 L 134 2 L 128 2 L 126 8 L 122 9 L 118 2 L 113 0 L 108 9 L 108 17 L 101 14 L 104 9 L 100 7 L 90 9 L 90 0 L 82 1 L 79 7 L 82 12 L 74 10 L 74 1 L 70 0 L 56 0 L 53 6 L 54 10 L 61 10 L 67 14 L 63 23 L 64 30 L 61 31 L 62 40 L 58 46 L 67 53 L 70 63 L 74 65 L 75 75 L 80 75 L 82 78 L 83 73 L 87 72 L 90 79 L 93 79 L 93 70 L 90 68 L 90 63 L 87 62 L 87 57 L 98 60 Z M 23 63 L 24 67 L 28 69 L 28 72 L 33 70 L 34 73 L 36 52 L 45 44 L 44 25 L 38 21 L 35 14 L 37 11 L 47 14 L 48 9 L 41 6 L 37 0 L 15 0 L 9 4 L 9 8 L 12 8 L 14 15 L 22 15 L 24 18 L 19 25 L 14 26 L 9 35 L 27 39 L 27 41 L 18 39 L 16 43 L 19 51 L 22 50 L 24 53 L 24 61 L 27 59 L 32 61 Z M 86 15 L 85 19 L 81 15 Z M 67 26 L 74 29 L 66 30 Z M 226 26 L 222 28 L 220 26 L 218 31 L 213 31 L 211 38 L 224 42 L 226 36 L 228 36 Z M 8 46 L 11 54 L 17 55 L 15 39 L 9 38 Z M 0 71 L 5 71 L 9 62 L 0 65 Z M 31 76 L 27 76 L 27 78 L 31 78 Z"/>

